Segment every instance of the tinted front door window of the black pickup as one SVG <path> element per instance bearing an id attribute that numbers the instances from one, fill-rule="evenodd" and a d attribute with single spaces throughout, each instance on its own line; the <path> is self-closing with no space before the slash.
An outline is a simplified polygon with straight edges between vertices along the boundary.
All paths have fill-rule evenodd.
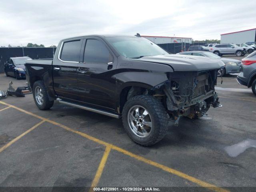
<path id="1" fill-rule="evenodd" d="M 106 64 L 111 61 L 112 56 L 102 42 L 96 39 L 88 39 L 86 41 L 84 62 Z"/>

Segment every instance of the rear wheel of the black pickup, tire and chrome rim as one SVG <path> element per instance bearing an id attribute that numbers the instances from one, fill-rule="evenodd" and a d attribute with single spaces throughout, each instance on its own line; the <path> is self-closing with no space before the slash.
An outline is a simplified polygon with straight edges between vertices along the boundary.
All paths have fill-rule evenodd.
<path id="1" fill-rule="evenodd" d="M 54 101 L 50 101 L 43 81 L 36 81 L 33 85 L 33 97 L 40 110 L 50 109 Z"/>

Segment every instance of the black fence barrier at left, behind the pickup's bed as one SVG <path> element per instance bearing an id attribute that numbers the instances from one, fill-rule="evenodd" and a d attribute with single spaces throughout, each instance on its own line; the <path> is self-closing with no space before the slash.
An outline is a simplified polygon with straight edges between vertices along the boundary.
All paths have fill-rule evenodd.
<path id="1" fill-rule="evenodd" d="M 4 72 L 4 62 L 10 57 L 28 56 L 32 59 L 53 58 L 56 47 L 1 47 L 0 73 Z"/>

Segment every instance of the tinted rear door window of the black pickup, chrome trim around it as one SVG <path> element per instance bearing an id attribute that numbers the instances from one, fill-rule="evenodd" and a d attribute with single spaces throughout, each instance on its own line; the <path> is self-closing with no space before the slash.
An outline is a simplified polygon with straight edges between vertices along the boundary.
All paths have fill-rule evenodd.
<path id="1" fill-rule="evenodd" d="M 64 61 L 79 61 L 81 41 L 64 42 L 60 59 Z"/>

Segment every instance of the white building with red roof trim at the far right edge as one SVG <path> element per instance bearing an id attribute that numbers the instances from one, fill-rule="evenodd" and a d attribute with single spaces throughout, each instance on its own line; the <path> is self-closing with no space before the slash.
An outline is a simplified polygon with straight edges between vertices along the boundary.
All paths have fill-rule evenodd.
<path id="1" fill-rule="evenodd" d="M 220 35 L 220 43 L 256 42 L 256 28 Z"/>

